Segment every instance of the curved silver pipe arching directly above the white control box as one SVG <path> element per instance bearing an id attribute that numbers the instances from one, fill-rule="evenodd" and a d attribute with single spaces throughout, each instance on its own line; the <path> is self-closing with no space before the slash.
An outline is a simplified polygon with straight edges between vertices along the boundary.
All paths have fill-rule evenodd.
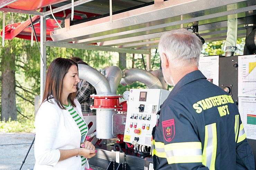
<path id="1" fill-rule="evenodd" d="M 163 88 L 161 82 L 153 74 L 146 70 L 138 68 L 131 68 L 123 70 L 124 77 L 122 77 L 120 84 L 123 86 L 132 84 L 134 82 L 144 83 L 148 88 Z"/>

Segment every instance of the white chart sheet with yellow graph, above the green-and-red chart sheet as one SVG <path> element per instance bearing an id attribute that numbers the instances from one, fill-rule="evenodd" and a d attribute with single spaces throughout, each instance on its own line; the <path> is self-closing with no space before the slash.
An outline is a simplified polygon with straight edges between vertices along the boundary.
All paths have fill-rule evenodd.
<path id="1" fill-rule="evenodd" d="M 256 97 L 256 55 L 238 56 L 238 96 Z"/>

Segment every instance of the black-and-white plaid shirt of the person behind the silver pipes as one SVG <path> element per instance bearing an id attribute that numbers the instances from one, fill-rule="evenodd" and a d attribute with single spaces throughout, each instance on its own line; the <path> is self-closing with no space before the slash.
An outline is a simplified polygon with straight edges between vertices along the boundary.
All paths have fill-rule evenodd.
<path id="1" fill-rule="evenodd" d="M 81 85 L 76 92 L 76 99 L 81 104 L 82 113 L 96 115 L 96 110 L 90 109 L 90 106 L 94 104 L 94 99 L 90 98 L 90 95 L 96 94 L 96 90 L 90 83 L 80 80 Z"/>

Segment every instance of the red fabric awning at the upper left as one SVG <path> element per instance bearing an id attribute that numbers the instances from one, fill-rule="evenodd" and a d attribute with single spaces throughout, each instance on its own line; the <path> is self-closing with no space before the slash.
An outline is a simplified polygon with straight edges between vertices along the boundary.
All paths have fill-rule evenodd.
<path id="1" fill-rule="evenodd" d="M 0 4 L 1 2 L 4 2 L 4 1 L 6 0 L 0 0 Z M 63 1 L 66 1 L 66 0 L 32 0 L 32 1 L 30 0 L 29 3 L 28 3 L 28 0 L 18 0 L 16 2 L 9 4 L 5 8 L 13 8 L 13 9 L 21 9 L 21 10 L 29 10 L 29 11 L 36 11 L 41 8 L 40 11 L 42 11 L 42 7 L 46 7 L 46 6 L 49 6 L 49 4 L 60 3 Z M 52 7 L 52 9 L 54 9 L 54 7 Z M 49 7 L 47 7 L 46 10 L 49 11 L 50 10 Z M 65 11 L 54 13 L 54 16 L 65 18 L 70 13 L 71 13 L 71 10 L 67 9 Z M 86 15 L 87 18 L 99 15 L 99 14 L 93 14 L 93 13 L 83 12 L 83 11 L 74 11 L 74 13 Z M 36 22 L 36 21 L 39 19 L 40 19 L 40 16 L 32 17 L 32 21 L 34 22 L 34 27 L 35 27 L 36 35 L 38 37 L 38 41 L 40 41 L 40 24 L 39 22 Z M 81 18 L 81 15 L 74 14 L 74 19 L 78 20 L 82 18 Z M 61 21 L 58 21 L 58 22 L 60 23 Z M 6 21 L 6 23 L 8 23 L 8 21 Z M 50 32 L 57 27 L 58 26 L 55 20 L 53 19 L 46 20 L 46 40 L 52 41 L 50 37 Z M 4 39 L 11 40 L 14 37 L 17 37 L 17 38 L 31 40 L 31 29 L 32 29 L 31 22 L 29 19 L 24 22 L 6 25 Z M 0 35 L 2 36 L 2 31 Z M 33 39 L 35 40 L 35 36 Z"/>

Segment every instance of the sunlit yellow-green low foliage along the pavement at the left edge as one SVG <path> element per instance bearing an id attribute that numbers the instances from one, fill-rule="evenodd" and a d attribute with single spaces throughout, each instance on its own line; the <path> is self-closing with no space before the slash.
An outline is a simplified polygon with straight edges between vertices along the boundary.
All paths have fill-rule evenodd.
<path id="1" fill-rule="evenodd" d="M 32 132 L 34 130 L 33 121 L 20 123 L 16 120 L 0 121 L 0 132 Z"/>

